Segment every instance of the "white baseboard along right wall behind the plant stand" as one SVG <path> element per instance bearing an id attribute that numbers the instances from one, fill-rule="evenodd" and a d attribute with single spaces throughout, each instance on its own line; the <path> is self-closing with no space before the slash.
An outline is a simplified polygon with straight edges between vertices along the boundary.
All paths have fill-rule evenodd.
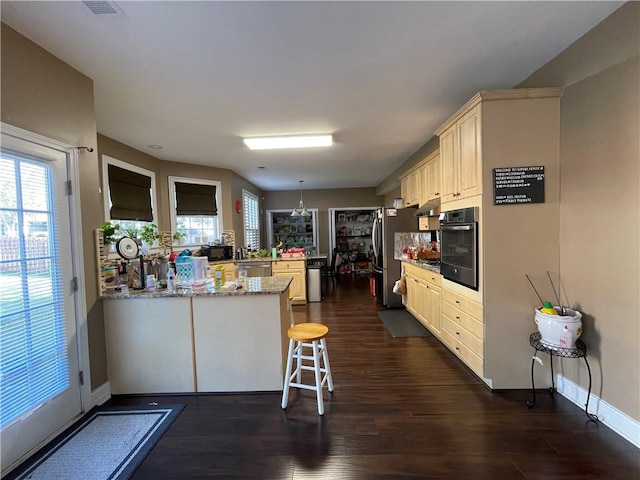
<path id="1" fill-rule="evenodd" d="M 587 390 L 562 375 L 556 382 L 558 393 L 584 409 L 587 403 Z M 598 420 L 616 432 L 625 440 L 640 448 L 640 422 L 621 412 L 591 392 L 589 413 L 598 416 Z"/>

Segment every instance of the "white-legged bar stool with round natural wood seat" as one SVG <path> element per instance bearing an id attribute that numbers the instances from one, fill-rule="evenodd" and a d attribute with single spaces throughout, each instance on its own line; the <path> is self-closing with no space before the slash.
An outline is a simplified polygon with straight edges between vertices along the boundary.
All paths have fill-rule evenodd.
<path id="1" fill-rule="evenodd" d="M 299 323 L 298 325 L 292 325 L 287 331 L 289 354 L 287 355 L 287 369 L 282 390 L 283 409 L 287 408 L 289 387 L 302 388 L 316 391 L 318 414 L 324 415 L 322 387 L 326 383 L 328 390 L 333 392 L 333 379 L 331 378 L 331 367 L 329 366 L 329 355 L 327 354 L 327 343 L 325 341 L 328 333 L 329 328 L 322 323 Z M 303 352 L 305 348 L 311 348 L 311 353 L 305 354 Z M 324 366 L 320 366 L 320 357 L 322 357 Z M 293 359 L 296 360 L 296 369 L 291 372 Z M 305 365 L 304 360 L 311 361 L 312 365 Z M 314 372 L 315 385 L 302 383 L 302 370 Z M 293 381 L 294 378 L 295 381 Z"/>

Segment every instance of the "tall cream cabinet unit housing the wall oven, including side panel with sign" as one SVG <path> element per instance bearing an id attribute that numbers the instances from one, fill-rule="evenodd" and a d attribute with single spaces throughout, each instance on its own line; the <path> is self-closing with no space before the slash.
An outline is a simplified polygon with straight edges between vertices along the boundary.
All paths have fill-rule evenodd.
<path id="1" fill-rule="evenodd" d="M 478 290 L 442 280 L 436 336 L 493 389 L 530 388 L 531 362 L 523 362 L 522 355 L 536 328 L 537 302 L 523 278 L 525 273 L 546 278 L 545 272 L 557 272 L 560 264 L 558 242 L 549 239 L 558 238 L 560 228 L 561 94 L 561 88 L 482 91 L 435 131 L 441 209 L 479 211 Z M 495 169 L 540 166 L 544 202 L 494 202 Z M 542 370 L 534 373 L 535 383 L 546 385 Z"/>

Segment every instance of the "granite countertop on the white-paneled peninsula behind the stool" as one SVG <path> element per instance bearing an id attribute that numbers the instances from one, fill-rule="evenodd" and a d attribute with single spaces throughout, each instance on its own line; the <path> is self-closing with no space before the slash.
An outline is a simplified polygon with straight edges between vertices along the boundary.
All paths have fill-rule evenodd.
<path id="1" fill-rule="evenodd" d="M 199 288 L 183 288 L 178 285 L 175 292 L 159 290 L 132 290 L 115 291 L 108 290 L 102 300 L 126 299 L 126 298 L 167 298 L 167 297 L 216 297 L 216 296 L 240 296 L 240 295 L 279 295 L 284 293 L 293 281 L 293 277 L 247 277 L 245 286 L 235 281 L 227 282 L 223 287 L 214 287 L 213 282 L 202 284 Z M 240 288 L 237 288 L 237 285 Z"/>

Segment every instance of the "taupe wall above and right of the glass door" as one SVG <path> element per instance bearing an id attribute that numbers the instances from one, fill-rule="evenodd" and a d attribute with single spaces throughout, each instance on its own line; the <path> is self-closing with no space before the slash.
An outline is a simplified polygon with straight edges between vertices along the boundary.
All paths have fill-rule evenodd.
<path id="1" fill-rule="evenodd" d="M 69 145 L 94 147 L 79 157 L 84 282 L 92 387 L 107 379 L 102 303 L 96 288 L 93 230 L 102 223 L 93 81 L 4 23 L 1 25 L 3 122 Z"/>

